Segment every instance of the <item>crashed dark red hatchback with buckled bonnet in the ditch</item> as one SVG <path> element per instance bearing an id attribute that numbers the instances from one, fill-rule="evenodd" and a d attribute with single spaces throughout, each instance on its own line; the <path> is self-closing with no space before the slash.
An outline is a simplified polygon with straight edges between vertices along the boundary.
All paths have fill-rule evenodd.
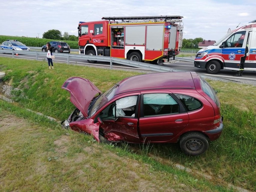
<path id="1" fill-rule="evenodd" d="M 77 107 L 62 126 L 99 141 L 180 143 L 200 155 L 223 129 L 220 102 L 195 72 L 167 72 L 125 78 L 102 92 L 88 79 L 69 78 L 63 89 Z"/>

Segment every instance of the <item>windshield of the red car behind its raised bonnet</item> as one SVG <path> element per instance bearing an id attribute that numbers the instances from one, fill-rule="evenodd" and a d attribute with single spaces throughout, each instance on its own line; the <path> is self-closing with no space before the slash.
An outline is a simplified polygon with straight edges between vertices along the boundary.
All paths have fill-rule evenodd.
<path id="1" fill-rule="evenodd" d="M 92 116 L 93 114 L 95 114 L 99 108 L 101 108 L 103 105 L 105 105 L 106 102 L 108 102 L 110 99 L 112 99 L 115 95 L 116 89 L 117 89 L 117 85 L 114 85 L 109 90 L 107 90 L 105 93 L 103 93 L 95 101 L 95 103 L 93 103 L 92 109 L 89 111 L 89 116 Z"/>

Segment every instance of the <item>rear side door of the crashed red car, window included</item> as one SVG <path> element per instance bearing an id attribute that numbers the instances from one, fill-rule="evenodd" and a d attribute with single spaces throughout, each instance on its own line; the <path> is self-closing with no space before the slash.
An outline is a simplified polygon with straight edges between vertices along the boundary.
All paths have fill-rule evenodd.
<path id="1" fill-rule="evenodd" d="M 139 134 L 144 142 L 169 142 L 188 124 L 184 106 L 170 92 L 144 93 Z"/>

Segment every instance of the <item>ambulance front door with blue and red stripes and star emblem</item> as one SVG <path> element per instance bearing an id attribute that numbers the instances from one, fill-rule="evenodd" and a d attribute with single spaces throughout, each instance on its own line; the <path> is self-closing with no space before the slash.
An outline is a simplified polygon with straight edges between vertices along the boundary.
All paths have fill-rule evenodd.
<path id="1" fill-rule="evenodd" d="M 221 56 L 224 59 L 226 69 L 239 69 L 241 57 L 245 54 L 248 32 L 234 33 L 226 40 L 226 47 L 222 49 Z M 241 40 L 241 37 L 245 37 Z"/>

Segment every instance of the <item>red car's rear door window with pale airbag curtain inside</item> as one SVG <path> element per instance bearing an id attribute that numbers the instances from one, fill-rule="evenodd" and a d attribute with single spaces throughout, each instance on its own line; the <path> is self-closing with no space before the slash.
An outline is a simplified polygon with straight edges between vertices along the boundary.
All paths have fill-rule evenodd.
<path id="1" fill-rule="evenodd" d="M 144 116 L 178 113 L 178 103 L 168 93 L 150 93 L 143 95 Z"/>

